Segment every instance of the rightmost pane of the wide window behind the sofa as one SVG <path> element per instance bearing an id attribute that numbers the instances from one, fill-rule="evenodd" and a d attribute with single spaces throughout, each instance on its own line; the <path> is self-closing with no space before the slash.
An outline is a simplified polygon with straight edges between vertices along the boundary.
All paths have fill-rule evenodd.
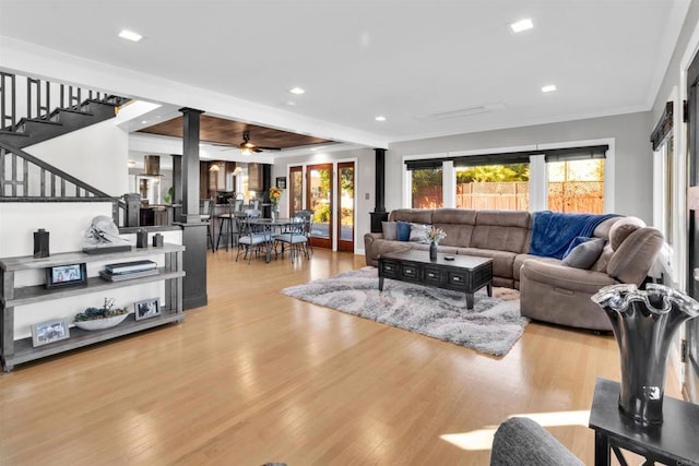
<path id="1" fill-rule="evenodd" d="M 549 162 L 548 210 L 567 213 L 604 212 L 604 159 Z"/>

